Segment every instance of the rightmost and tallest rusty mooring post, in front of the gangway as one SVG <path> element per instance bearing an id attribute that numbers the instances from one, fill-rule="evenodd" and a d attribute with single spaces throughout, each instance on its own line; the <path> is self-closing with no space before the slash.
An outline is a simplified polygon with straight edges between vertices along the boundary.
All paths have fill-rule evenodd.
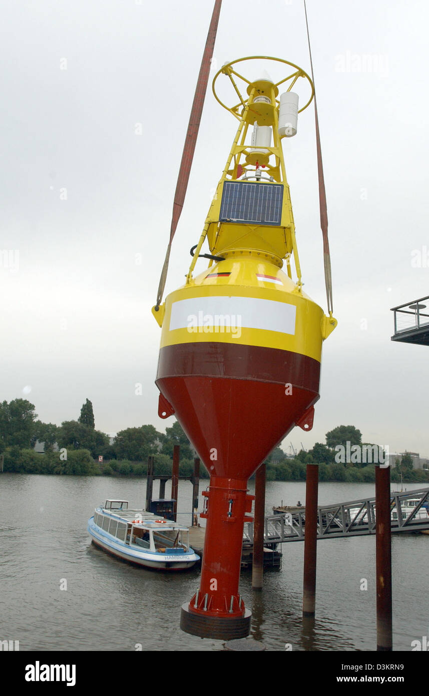
<path id="1" fill-rule="evenodd" d="M 392 649 L 390 467 L 375 466 L 377 650 Z"/>

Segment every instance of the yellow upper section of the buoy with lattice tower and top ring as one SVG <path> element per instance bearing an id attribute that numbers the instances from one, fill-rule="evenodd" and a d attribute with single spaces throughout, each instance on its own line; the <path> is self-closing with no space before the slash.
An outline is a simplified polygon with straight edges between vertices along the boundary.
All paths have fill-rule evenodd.
<path id="1" fill-rule="evenodd" d="M 162 326 L 161 347 L 213 340 L 238 342 L 242 345 L 293 351 L 320 361 L 322 342 L 337 326 L 337 320 L 332 315 L 327 317 L 321 307 L 302 292 L 295 225 L 281 143 L 285 136 L 279 134 L 280 102 L 277 99 L 280 85 L 284 91 L 290 91 L 298 79 L 304 78 L 309 82 L 311 95 L 305 106 L 299 109 L 302 111 L 313 98 L 314 86 L 301 68 L 279 58 L 268 60 L 286 63 L 291 72 L 277 83 L 265 78 L 252 82 L 236 71 L 237 63 L 263 57 L 252 56 L 231 61 L 213 79 L 213 93 L 218 102 L 238 119 L 238 129 L 186 276 L 186 285 L 172 292 L 159 307 L 159 311 L 153 309 L 152 313 Z M 223 104 L 216 94 L 215 83 L 220 74 L 229 78 L 234 94 L 239 97 L 240 101 L 232 108 Z M 243 94 L 236 83 L 238 79 L 245 82 Z M 271 147 L 246 144 L 248 128 L 254 124 L 272 127 Z M 253 156 L 249 157 L 252 148 L 268 151 L 268 164 L 264 168 L 253 161 Z M 254 185 L 257 186 L 282 187 L 281 215 L 278 220 L 280 224 L 220 220 L 225 183 L 243 183 L 250 178 L 256 180 Z M 197 256 L 206 239 L 211 254 L 222 257 L 222 260 L 216 264 L 211 260 L 209 268 L 194 278 Z M 281 270 L 284 260 L 286 273 Z M 292 280 L 291 262 L 295 267 L 296 282 Z M 264 280 L 258 274 L 268 278 Z M 225 308 L 230 308 L 233 313 L 237 308 L 243 310 L 240 331 L 237 326 L 237 330 L 232 331 L 232 325 L 229 331 L 220 330 L 220 326 L 216 330 L 214 324 L 211 328 L 208 325 L 205 328 L 202 326 L 207 308 L 216 308 L 216 302 L 211 302 L 212 297 L 218 298 L 218 312 L 222 316 Z M 186 317 L 188 309 L 189 320 Z M 195 322 L 199 323 L 196 325 Z"/>

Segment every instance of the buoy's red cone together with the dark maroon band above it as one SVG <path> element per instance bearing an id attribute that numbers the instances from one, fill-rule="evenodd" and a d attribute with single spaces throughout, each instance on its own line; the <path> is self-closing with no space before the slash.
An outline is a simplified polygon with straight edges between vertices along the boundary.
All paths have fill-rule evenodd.
<path id="1" fill-rule="evenodd" d="M 161 349 L 156 383 L 211 475 L 247 480 L 316 400 L 320 363 L 291 351 Z"/>

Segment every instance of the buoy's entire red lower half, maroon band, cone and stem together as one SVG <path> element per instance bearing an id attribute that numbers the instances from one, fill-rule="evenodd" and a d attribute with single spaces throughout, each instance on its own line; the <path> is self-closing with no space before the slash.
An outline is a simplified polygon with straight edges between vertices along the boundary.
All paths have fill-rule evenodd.
<path id="1" fill-rule="evenodd" d="M 248 478 L 318 400 L 319 370 L 317 361 L 277 349 L 220 342 L 161 349 L 156 384 L 211 476 L 201 584 L 182 610 L 184 631 L 212 638 L 222 631 L 200 628 L 204 617 L 232 622 L 220 637 L 247 630 L 238 582 Z"/>

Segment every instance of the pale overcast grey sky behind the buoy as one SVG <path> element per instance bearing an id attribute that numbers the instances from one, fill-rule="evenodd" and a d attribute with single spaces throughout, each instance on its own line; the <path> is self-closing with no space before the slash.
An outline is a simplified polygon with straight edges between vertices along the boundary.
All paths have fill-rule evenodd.
<path id="1" fill-rule="evenodd" d="M 44 422 L 89 398 L 108 434 L 172 425 L 157 415 L 151 308 L 212 8 L 3 3 L 0 401 L 29 399 Z M 307 0 L 307 13 L 339 325 L 314 427 L 283 448 L 355 425 L 428 456 L 428 348 L 391 342 L 390 308 L 429 295 L 429 4 Z M 309 72 L 302 0 L 223 0 L 209 84 L 255 54 Z M 165 294 L 184 283 L 235 131 L 209 86 Z M 326 311 L 313 106 L 284 153 L 305 292 Z"/>

